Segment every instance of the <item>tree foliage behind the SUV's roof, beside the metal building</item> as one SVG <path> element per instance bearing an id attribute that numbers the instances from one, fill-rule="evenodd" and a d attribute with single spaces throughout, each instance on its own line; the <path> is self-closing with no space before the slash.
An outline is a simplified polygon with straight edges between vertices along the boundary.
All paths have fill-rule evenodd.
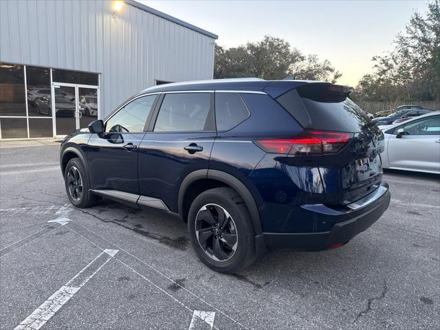
<path id="1" fill-rule="evenodd" d="M 336 82 L 341 74 L 327 60 L 304 56 L 283 39 L 265 36 L 262 41 L 224 49 L 215 46 L 214 78 L 257 77 L 266 80 L 323 80 Z"/>

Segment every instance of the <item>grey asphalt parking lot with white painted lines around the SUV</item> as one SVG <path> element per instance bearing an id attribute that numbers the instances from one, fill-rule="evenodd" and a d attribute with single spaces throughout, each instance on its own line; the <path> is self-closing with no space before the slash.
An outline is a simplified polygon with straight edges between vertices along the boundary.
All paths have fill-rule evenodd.
<path id="1" fill-rule="evenodd" d="M 390 207 L 347 245 L 225 275 L 177 218 L 72 208 L 59 145 L 4 146 L 1 329 L 440 329 L 439 176 L 388 171 Z"/>

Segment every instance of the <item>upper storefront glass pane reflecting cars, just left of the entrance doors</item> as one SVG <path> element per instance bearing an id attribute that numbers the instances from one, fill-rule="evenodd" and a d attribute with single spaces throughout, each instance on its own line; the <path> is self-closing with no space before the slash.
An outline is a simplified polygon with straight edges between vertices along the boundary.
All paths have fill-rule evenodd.
<path id="1" fill-rule="evenodd" d="M 26 66 L 28 113 L 30 117 L 50 117 L 50 69 Z"/>

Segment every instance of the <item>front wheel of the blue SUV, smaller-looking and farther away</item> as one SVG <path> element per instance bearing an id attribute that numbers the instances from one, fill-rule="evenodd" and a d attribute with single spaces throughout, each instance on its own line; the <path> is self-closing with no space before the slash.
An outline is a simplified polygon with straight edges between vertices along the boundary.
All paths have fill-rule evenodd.
<path id="1" fill-rule="evenodd" d="M 76 184 L 72 178 L 76 180 Z M 99 201 L 100 198 L 89 191 L 89 176 L 79 158 L 72 158 L 67 162 L 64 170 L 64 182 L 67 197 L 76 208 L 88 208 Z"/>

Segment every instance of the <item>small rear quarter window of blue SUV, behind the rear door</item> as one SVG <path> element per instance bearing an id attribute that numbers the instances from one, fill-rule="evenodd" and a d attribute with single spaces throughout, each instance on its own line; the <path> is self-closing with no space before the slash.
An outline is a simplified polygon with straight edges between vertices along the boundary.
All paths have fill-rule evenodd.
<path id="1" fill-rule="evenodd" d="M 215 94 L 215 122 L 217 131 L 229 131 L 248 119 L 250 111 L 239 93 Z"/>

